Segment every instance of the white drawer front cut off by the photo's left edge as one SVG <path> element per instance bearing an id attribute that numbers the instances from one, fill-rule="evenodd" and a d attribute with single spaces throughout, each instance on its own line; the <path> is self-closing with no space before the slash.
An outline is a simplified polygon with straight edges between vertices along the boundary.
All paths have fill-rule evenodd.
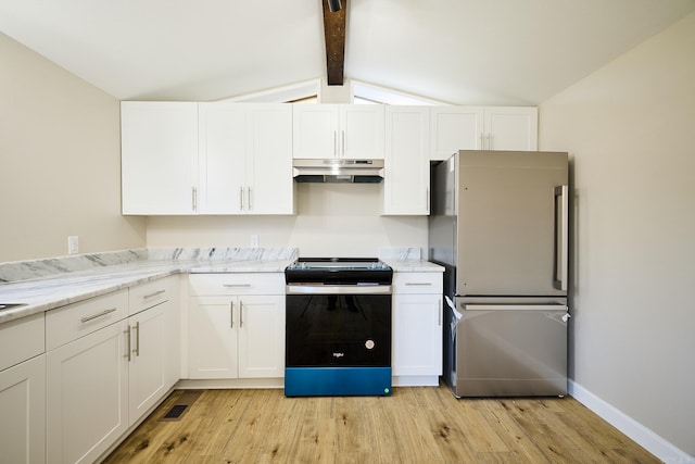
<path id="1" fill-rule="evenodd" d="M 43 313 L 0 325 L 0 371 L 46 351 L 45 336 Z"/>

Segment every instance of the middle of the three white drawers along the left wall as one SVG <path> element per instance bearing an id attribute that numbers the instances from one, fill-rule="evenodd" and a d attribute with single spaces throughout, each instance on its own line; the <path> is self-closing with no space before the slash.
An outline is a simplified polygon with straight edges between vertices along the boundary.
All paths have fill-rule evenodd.
<path id="1" fill-rule="evenodd" d="M 128 316 L 128 290 L 119 290 L 46 313 L 46 349 L 52 350 Z"/>

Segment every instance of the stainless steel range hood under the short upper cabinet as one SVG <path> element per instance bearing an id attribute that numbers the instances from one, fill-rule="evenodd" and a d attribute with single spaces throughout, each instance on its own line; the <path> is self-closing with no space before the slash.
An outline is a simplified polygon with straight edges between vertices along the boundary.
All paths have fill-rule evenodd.
<path id="1" fill-rule="evenodd" d="M 298 183 L 378 184 L 383 180 L 383 160 L 294 159 Z"/>

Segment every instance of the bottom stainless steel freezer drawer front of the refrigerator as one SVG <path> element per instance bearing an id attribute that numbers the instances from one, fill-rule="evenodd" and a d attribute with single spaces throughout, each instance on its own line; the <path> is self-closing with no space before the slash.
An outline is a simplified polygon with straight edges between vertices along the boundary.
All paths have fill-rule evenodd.
<path id="1" fill-rule="evenodd" d="M 556 310 L 557 305 L 508 311 L 458 308 L 457 317 L 448 321 L 455 331 L 450 335 L 453 358 L 445 364 L 445 378 L 455 396 L 567 393 L 565 310 Z"/>

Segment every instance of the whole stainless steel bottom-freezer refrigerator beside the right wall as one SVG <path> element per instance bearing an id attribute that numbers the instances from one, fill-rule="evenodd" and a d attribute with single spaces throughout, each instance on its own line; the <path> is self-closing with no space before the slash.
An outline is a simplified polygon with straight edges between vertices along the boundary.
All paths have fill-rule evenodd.
<path id="1" fill-rule="evenodd" d="M 456 397 L 566 394 L 567 153 L 459 151 L 431 180 L 445 383 Z"/>

